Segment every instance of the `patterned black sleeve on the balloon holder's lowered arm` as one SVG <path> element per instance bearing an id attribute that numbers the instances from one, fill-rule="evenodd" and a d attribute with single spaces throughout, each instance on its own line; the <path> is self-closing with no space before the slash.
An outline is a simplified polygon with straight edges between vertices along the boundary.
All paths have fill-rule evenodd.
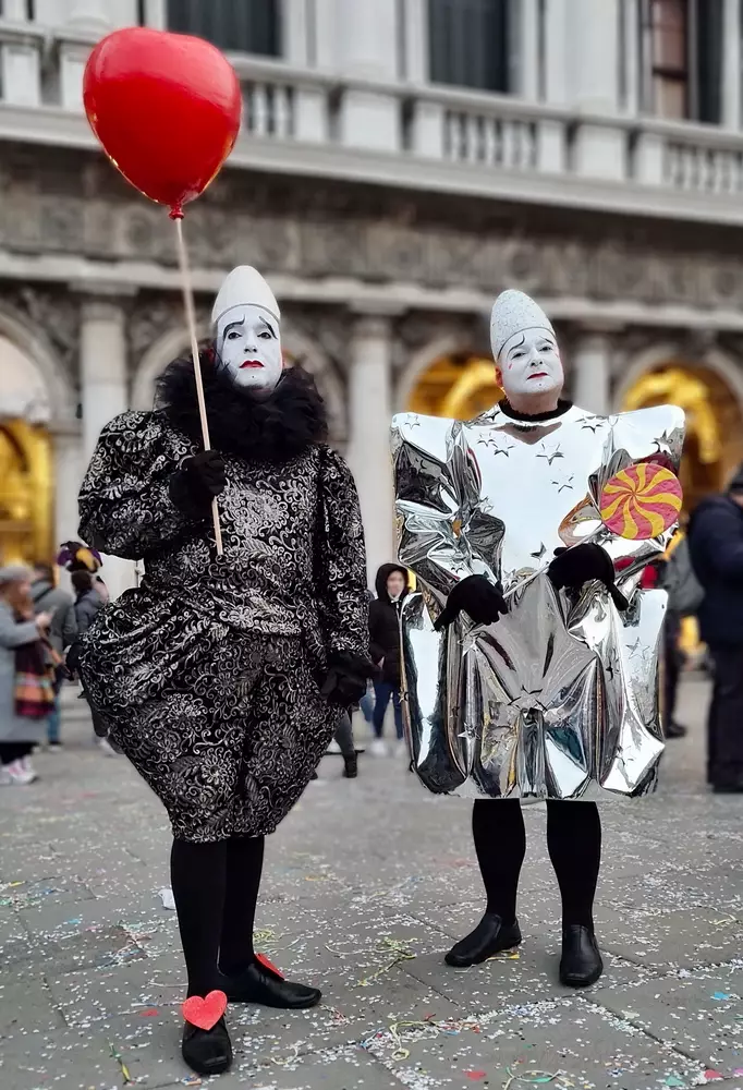
<path id="1" fill-rule="evenodd" d="M 351 471 L 330 447 L 320 448 L 318 595 L 328 651 L 369 657 L 366 549 Z"/>

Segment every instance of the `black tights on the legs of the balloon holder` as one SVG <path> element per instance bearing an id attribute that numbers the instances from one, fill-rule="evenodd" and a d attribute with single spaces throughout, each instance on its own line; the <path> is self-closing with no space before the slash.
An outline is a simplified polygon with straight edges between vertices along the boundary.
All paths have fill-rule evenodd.
<path id="1" fill-rule="evenodd" d="M 222 974 L 239 976 L 253 960 L 263 864 L 263 836 L 173 840 L 170 874 L 188 995 L 222 988 Z"/>

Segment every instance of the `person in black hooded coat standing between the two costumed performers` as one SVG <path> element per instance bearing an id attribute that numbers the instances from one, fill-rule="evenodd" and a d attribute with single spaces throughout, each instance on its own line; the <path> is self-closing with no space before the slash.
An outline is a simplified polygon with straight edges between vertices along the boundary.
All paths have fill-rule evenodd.
<path id="1" fill-rule="evenodd" d="M 407 594 L 407 569 L 399 564 L 382 564 L 376 579 L 377 597 L 369 606 L 369 638 L 372 658 L 379 667 L 374 682 L 375 704 L 372 715 L 375 741 L 372 752 L 382 755 L 387 748 L 382 740 L 385 714 L 392 700 L 394 728 L 400 749 L 403 749 L 402 708 L 400 706 L 400 610 Z"/>

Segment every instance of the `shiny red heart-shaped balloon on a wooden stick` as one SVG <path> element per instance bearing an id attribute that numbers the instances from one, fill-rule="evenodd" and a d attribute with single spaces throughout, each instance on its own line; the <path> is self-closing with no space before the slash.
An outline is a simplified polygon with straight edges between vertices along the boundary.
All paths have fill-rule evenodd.
<path id="1" fill-rule="evenodd" d="M 173 215 L 204 192 L 240 130 L 234 69 L 210 43 L 184 34 L 109 34 L 88 58 L 83 99 L 114 167 Z"/>

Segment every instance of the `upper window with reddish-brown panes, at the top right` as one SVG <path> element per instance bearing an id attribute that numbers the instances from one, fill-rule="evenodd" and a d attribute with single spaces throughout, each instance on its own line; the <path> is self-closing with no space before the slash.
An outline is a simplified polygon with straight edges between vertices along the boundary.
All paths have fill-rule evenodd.
<path id="1" fill-rule="evenodd" d="M 644 0 L 645 108 L 719 122 L 722 0 Z"/>

